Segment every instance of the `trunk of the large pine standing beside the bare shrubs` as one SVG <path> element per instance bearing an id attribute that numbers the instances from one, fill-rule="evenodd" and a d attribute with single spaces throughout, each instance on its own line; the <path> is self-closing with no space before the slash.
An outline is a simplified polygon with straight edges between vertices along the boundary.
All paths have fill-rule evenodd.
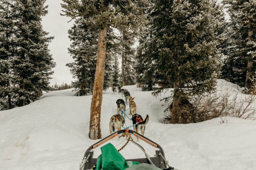
<path id="1" fill-rule="evenodd" d="M 175 56 L 178 55 L 179 51 L 177 49 L 178 46 L 178 41 L 175 40 L 174 41 L 174 45 L 175 45 L 175 50 L 174 50 L 174 54 Z M 179 61 L 176 57 L 176 61 L 174 62 L 174 67 L 176 67 L 178 69 L 179 66 Z M 172 117 L 171 117 L 171 123 L 172 124 L 176 124 L 179 123 L 179 94 L 178 94 L 178 90 L 179 90 L 179 73 L 176 73 L 177 77 L 174 81 L 174 90 L 173 90 L 173 109 L 172 109 Z"/>

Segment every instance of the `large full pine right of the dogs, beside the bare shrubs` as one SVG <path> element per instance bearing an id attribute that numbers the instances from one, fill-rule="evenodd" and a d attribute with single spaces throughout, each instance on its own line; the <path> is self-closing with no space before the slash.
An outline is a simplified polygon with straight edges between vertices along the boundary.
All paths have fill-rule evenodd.
<path id="1" fill-rule="evenodd" d="M 141 77 L 161 84 L 153 95 L 173 86 L 173 95 L 165 98 L 173 98 L 171 123 L 187 123 L 193 119 L 187 115 L 193 107 L 189 98 L 213 90 L 220 75 L 221 55 L 216 46 L 223 39 L 217 34 L 222 10 L 211 0 L 153 2 L 150 30 L 142 44 L 147 70 Z"/>

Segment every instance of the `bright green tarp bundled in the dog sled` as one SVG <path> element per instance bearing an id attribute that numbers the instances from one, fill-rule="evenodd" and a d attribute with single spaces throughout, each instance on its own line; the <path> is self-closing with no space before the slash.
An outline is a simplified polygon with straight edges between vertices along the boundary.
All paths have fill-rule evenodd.
<path id="1" fill-rule="evenodd" d="M 111 143 L 104 145 L 100 149 L 101 155 L 98 157 L 96 163 L 97 170 L 123 170 L 139 164 L 138 162 L 126 162 L 124 157 Z"/>

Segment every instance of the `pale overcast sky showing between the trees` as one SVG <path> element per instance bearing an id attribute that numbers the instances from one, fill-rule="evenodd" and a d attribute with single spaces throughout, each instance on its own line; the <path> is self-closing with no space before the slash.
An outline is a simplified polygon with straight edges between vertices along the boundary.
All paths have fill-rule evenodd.
<path id="1" fill-rule="evenodd" d="M 60 16 L 62 10 L 60 3 L 62 3 L 62 0 L 47 0 L 45 5 L 48 5 L 48 14 L 42 18 L 43 29 L 49 32 L 49 36 L 55 37 L 49 44 L 50 54 L 56 62 L 50 85 L 55 84 L 55 82 L 58 84 L 62 82 L 70 84 L 74 80 L 69 68 L 66 66 L 67 63 L 73 61 L 67 49 L 71 44 L 68 38 L 68 29 L 72 27 L 73 22 L 68 23 L 69 17 Z"/>

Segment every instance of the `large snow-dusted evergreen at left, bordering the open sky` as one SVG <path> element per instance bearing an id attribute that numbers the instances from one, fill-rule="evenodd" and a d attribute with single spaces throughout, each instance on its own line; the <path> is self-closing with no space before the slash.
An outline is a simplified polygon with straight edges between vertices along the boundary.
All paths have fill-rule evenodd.
<path id="1" fill-rule="evenodd" d="M 42 90 L 50 90 L 48 84 L 53 73 L 50 70 L 55 63 L 48 49 L 48 43 L 53 37 L 46 37 L 48 33 L 43 31 L 41 26 L 41 17 L 47 14 L 47 6 L 44 6 L 44 3 L 45 0 L 0 3 L 1 9 L 6 7 L 0 10 L 1 21 L 4 21 L 1 23 L 1 35 L 4 38 L 1 43 L 4 43 L 5 47 L 6 43 L 9 43 L 7 49 L 1 50 L 5 53 L 5 61 L 1 61 L 1 64 L 7 66 L 8 63 L 8 68 L 3 68 L 5 73 L 1 74 L 4 76 L 1 80 L 5 81 L 5 85 L 1 85 L 1 98 L 8 93 L 8 107 L 4 101 L 6 99 L 3 99 L 3 106 L 0 106 L 2 109 L 24 106 L 37 100 L 42 95 Z M 8 25 L 10 23 L 11 25 Z"/>

